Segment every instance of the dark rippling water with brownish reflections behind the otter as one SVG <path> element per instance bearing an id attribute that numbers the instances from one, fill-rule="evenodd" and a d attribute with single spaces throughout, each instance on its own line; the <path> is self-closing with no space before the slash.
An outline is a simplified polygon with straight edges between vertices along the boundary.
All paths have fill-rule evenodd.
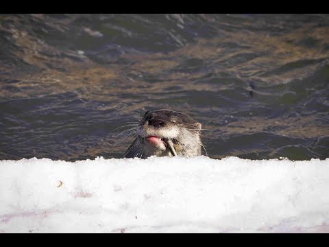
<path id="1" fill-rule="evenodd" d="M 1 14 L 0 68 L 0 159 L 121 158 L 159 108 L 212 158 L 329 157 L 326 14 Z"/>

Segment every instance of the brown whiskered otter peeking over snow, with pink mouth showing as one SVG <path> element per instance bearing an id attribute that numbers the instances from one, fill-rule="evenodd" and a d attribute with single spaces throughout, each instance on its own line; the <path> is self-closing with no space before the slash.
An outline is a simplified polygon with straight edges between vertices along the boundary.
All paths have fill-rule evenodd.
<path id="1" fill-rule="evenodd" d="M 200 156 L 202 124 L 186 113 L 147 110 L 136 130 L 136 138 L 125 158 L 149 156 Z"/>

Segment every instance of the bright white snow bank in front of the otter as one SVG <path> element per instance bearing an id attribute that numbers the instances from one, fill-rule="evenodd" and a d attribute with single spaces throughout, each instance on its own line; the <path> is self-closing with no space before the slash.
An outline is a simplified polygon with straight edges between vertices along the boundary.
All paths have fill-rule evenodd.
<path id="1" fill-rule="evenodd" d="M 326 161 L 0 161 L 0 233 L 329 233 Z"/>

